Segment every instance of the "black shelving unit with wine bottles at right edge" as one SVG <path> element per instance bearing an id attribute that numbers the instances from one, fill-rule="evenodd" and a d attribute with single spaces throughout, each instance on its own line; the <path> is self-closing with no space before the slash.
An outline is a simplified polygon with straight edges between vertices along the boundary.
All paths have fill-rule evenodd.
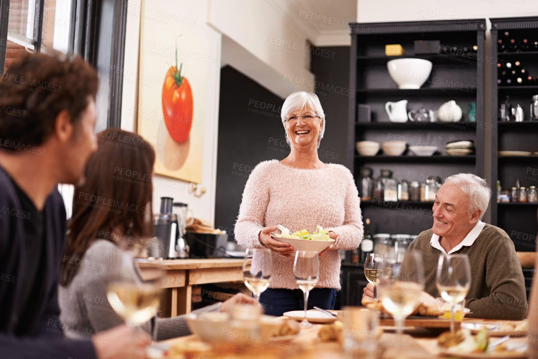
<path id="1" fill-rule="evenodd" d="M 538 38 L 538 17 L 492 18 L 491 19 L 491 59 L 497 61 L 520 61 L 533 78 L 538 75 L 538 52 L 502 52 L 497 51 L 497 40 L 509 37 L 519 40 Z M 491 130 L 491 224 L 498 226 L 514 241 L 516 251 L 534 251 L 534 236 L 538 232 L 536 223 L 537 203 L 528 202 L 495 202 L 497 193 L 496 180 L 500 180 L 503 190 L 515 186 L 519 179 L 521 186 L 538 186 L 538 176 L 533 169 L 538 168 L 538 156 L 498 156 L 498 151 L 538 152 L 538 121 L 500 122 L 498 121 L 499 104 L 510 98 L 512 105 L 520 104 L 529 118 L 529 102 L 532 95 L 538 95 L 538 86 L 498 86 L 497 66 L 491 67 L 491 114 L 493 116 Z M 530 172 L 529 172 L 530 168 Z M 538 170 L 536 170 L 538 171 Z M 534 172 L 536 173 L 536 172 Z"/>

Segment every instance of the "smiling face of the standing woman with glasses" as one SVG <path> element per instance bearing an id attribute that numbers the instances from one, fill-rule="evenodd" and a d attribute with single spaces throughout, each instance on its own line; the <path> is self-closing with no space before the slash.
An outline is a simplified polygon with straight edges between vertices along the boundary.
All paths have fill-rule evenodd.
<path id="1" fill-rule="evenodd" d="M 314 149 L 317 149 L 317 138 L 320 136 L 321 127 L 322 119 L 308 106 L 289 112 L 284 122 L 292 147 L 293 145 L 312 145 Z"/>

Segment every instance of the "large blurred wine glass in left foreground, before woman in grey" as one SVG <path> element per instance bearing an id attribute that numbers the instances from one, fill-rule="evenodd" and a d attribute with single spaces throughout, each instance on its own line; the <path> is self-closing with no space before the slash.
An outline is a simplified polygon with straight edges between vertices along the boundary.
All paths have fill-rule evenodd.
<path id="1" fill-rule="evenodd" d="M 129 327 L 139 328 L 159 309 L 162 279 L 162 244 L 159 238 L 134 238 L 111 263 L 114 279 L 107 299 Z"/>

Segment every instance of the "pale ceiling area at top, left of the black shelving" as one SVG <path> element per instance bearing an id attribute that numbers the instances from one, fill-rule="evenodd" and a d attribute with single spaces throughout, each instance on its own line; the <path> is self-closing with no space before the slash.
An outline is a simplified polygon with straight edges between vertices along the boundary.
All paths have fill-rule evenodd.
<path id="1" fill-rule="evenodd" d="M 349 46 L 357 0 L 267 0 L 314 46 Z"/>

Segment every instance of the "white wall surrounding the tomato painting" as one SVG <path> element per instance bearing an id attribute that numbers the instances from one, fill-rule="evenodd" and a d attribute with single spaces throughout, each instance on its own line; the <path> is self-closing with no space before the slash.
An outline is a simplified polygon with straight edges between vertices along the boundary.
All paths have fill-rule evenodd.
<path id="1" fill-rule="evenodd" d="M 137 123 L 137 80 L 138 80 L 138 50 L 140 39 L 140 14 L 146 18 L 155 18 L 155 9 L 140 8 L 140 0 L 129 0 L 128 17 L 126 24 L 126 44 L 124 61 L 124 80 L 122 93 L 122 119 L 121 128 L 136 132 Z M 177 8 L 171 9 L 175 15 L 196 19 L 196 31 L 203 33 L 211 43 L 212 53 L 216 58 L 215 64 L 208 73 L 208 91 L 206 101 L 206 118 L 204 119 L 204 148 L 202 164 L 202 184 L 206 193 L 196 196 L 189 193 L 189 184 L 185 181 L 165 177 L 153 176 L 153 212 L 158 213 L 160 198 L 172 197 L 176 202 L 183 202 L 193 210 L 194 216 L 210 223 L 215 219 L 215 187 L 217 164 L 217 135 L 218 135 L 218 100 L 220 89 L 221 64 L 221 34 L 206 23 L 208 1 L 177 1 Z M 140 11 L 142 9 L 142 11 Z M 158 16 L 157 16 L 158 17 Z M 162 19 L 160 19 L 162 20 Z M 168 21 L 172 21 L 169 20 Z M 156 86 L 157 91 L 162 87 Z M 143 136 L 144 134 L 142 134 Z M 200 190 L 197 191 L 200 193 Z"/>

